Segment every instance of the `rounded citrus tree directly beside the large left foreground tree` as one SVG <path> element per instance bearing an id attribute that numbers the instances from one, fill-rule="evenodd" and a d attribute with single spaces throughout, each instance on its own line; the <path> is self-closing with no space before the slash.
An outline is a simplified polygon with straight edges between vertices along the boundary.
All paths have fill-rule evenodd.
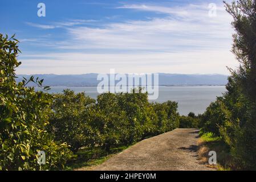
<path id="1" fill-rule="evenodd" d="M 64 90 L 63 94 L 53 94 L 53 97 L 50 125 L 47 129 L 56 140 L 67 142 L 71 150 L 77 152 L 80 147 L 87 146 L 91 141 L 92 129 L 88 126 L 84 114 L 95 100 L 84 93 L 75 94 L 68 89 Z"/>

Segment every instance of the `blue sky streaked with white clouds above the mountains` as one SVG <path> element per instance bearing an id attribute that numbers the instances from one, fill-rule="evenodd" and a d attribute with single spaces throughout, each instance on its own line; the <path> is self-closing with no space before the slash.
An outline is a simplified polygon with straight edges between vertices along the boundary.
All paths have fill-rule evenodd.
<path id="1" fill-rule="evenodd" d="M 228 74 L 237 65 L 222 1 L 17 0 L 0 12 L 0 32 L 21 41 L 19 74 Z"/>

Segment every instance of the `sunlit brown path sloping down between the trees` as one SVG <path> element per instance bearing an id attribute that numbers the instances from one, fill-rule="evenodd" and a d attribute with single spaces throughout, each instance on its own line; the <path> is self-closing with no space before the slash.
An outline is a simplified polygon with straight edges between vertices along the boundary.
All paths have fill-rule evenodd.
<path id="1" fill-rule="evenodd" d="M 176 129 L 145 139 L 94 170 L 213 170 L 197 158 L 197 129 Z"/>

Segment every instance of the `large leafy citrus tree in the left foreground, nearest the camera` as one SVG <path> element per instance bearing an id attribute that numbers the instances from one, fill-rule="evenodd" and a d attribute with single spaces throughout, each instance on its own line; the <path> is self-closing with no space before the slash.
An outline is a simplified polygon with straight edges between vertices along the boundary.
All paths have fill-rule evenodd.
<path id="1" fill-rule="evenodd" d="M 0 170 L 62 167 L 71 152 L 45 129 L 52 97 L 26 87 L 31 81 L 42 86 L 43 80 L 15 82 L 15 69 L 21 64 L 18 52 L 18 40 L 0 34 Z M 38 151 L 45 152 L 45 165 L 38 164 Z"/>

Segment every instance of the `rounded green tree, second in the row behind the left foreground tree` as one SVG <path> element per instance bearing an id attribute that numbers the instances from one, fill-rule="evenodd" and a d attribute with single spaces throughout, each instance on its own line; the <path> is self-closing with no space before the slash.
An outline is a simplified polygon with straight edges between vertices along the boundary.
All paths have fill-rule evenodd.
<path id="1" fill-rule="evenodd" d="M 120 109 L 116 94 L 104 93 L 97 97 L 96 105 L 87 117 L 95 133 L 95 143 L 109 151 L 111 146 L 120 145 L 128 138 L 128 118 Z"/>

